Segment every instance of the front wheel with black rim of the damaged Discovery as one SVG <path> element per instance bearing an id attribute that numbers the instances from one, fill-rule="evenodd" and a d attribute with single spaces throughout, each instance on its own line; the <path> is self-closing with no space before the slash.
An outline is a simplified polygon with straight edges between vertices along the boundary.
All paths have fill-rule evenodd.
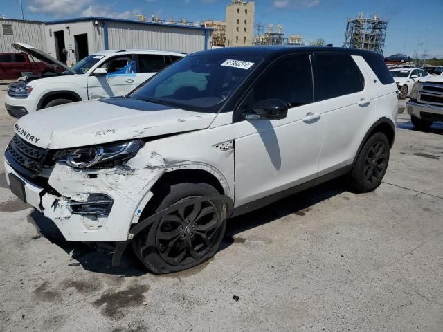
<path id="1" fill-rule="evenodd" d="M 206 183 L 179 183 L 163 194 L 164 198 L 152 209 L 154 212 L 185 199 L 219 192 Z M 163 216 L 134 237 L 132 248 L 152 273 L 172 273 L 197 266 L 215 255 L 224 237 L 226 218 L 221 219 L 222 209 L 221 201 L 205 201 L 201 206 Z M 209 213 L 201 216 L 201 211 Z"/>

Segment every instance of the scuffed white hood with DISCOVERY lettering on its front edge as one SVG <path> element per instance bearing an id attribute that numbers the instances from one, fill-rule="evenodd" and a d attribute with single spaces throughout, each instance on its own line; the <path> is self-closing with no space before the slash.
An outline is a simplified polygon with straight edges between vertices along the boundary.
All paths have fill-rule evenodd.
<path id="1" fill-rule="evenodd" d="M 38 147 L 65 149 L 205 129 L 216 116 L 131 98 L 107 98 L 30 113 L 14 129 Z"/>

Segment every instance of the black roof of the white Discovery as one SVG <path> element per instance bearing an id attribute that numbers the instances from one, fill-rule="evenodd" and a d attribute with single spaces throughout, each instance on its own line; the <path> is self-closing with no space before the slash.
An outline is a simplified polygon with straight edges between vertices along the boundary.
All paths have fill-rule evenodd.
<path id="1" fill-rule="evenodd" d="M 194 55 L 249 55 L 255 57 L 274 57 L 285 54 L 311 53 L 311 52 L 334 52 L 350 55 L 379 55 L 370 50 L 356 48 L 330 47 L 330 46 L 242 46 L 215 48 L 193 53 Z"/>

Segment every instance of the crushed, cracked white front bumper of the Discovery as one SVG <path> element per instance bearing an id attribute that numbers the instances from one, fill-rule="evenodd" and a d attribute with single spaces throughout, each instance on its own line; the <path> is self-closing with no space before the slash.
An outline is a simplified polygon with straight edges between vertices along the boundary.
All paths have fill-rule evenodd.
<path id="1" fill-rule="evenodd" d="M 6 181 L 10 174 L 24 183 L 26 202 L 51 219 L 68 241 L 125 241 L 129 228 L 138 222 L 152 185 L 164 172 L 163 159 L 150 155 L 150 168 L 112 168 L 82 172 L 55 165 L 47 190 L 15 171 L 5 162 Z M 57 194 L 58 193 L 58 194 Z M 91 194 L 104 194 L 112 201 L 109 214 L 75 214 L 71 203 L 87 202 Z"/>

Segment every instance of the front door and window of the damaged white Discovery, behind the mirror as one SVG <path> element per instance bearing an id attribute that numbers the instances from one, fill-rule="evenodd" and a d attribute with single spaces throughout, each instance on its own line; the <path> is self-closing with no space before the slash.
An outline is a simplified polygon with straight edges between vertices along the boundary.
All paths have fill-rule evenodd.
<path id="1" fill-rule="evenodd" d="M 254 84 L 236 112 L 248 113 L 257 101 L 271 98 L 289 104 L 287 118 L 233 124 L 236 206 L 317 176 L 322 120 L 312 116 L 318 112 L 312 104 L 308 55 L 278 60 Z"/>

